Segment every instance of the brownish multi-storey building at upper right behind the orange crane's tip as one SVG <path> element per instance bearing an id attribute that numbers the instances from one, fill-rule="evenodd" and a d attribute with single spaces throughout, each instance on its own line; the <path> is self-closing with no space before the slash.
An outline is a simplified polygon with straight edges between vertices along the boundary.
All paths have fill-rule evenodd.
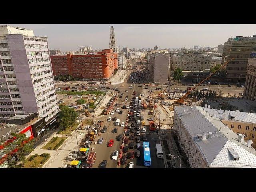
<path id="1" fill-rule="evenodd" d="M 240 80 L 246 79 L 246 68 L 251 52 L 256 52 L 256 35 L 252 37 L 236 36 L 229 38 L 224 43 L 222 64 L 234 58 L 224 69 L 226 78 L 234 82 L 237 82 L 238 76 L 240 76 Z"/>

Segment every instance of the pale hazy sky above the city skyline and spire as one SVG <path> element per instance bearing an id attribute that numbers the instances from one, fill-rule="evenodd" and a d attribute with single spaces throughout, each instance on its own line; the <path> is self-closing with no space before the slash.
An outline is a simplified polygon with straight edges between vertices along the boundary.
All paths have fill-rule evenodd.
<path id="1" fill-rule="evenodd" d="M 109 47 L 110 24 L 8 24 L 34 30 L 35 36 L 47 36 L 50 49 L 62 52 Z M 230 37 L 256 34 L 256 24 L 113 24 L 121 49 L 182 48 L 218 46 Z"/>

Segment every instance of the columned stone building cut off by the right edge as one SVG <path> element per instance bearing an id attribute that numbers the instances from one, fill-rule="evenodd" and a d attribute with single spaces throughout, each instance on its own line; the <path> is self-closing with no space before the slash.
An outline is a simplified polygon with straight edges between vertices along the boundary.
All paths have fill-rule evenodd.
<path id="1" fill-rule="evenodd" d="M 256 58 L 248 58 L 244 98 L 256 101 Z"/>

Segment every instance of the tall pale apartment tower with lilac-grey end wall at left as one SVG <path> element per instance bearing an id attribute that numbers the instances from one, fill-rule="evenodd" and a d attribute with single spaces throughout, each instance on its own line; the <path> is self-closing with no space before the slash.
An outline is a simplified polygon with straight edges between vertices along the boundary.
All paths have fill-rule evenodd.
<path id="1" fill-rule="evenodd" d="M 0 122 L 33 112 L 46 124 L 59 112 L 47 38 L 0 26 Z"/>

